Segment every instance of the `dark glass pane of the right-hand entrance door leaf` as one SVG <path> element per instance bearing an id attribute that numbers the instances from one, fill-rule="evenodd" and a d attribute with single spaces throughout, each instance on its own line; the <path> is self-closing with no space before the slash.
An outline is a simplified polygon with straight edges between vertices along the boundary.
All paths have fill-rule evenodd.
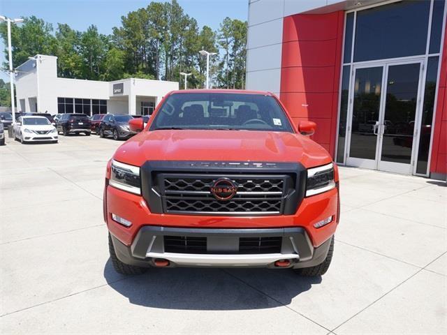
<path id="1" fill-rule="evenodd" d="M 388 67 L 381 161 L 411 163 L 420 64 Z"/>

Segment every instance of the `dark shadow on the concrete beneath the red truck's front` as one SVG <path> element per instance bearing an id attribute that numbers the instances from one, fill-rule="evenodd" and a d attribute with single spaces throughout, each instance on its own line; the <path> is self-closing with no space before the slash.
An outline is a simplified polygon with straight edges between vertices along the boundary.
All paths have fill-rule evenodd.
<path id="1" fill-rule="evenodd" d="M 146 274 L 117 280 L 110 259 L 105 263 L 104 277 L 110 287 L 127 297 L 131 304 L 203 311 L 282 306 L 312 285 L 321 283 L 321 277 L 300 277 L 290 269 L 183 267 L 151 268 Z"/>

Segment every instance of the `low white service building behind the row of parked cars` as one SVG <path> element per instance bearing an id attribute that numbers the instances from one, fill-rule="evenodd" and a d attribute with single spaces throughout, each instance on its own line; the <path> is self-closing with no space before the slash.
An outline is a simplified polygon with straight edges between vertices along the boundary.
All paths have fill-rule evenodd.
<path id="1" fill-rule="evenodd" d="M 113 82 L 57 77 L 57 57 L 38 54 L 17 67 L 17 110 L 93 114 L 152 114 L 178 82 L 129 78 Z"/>

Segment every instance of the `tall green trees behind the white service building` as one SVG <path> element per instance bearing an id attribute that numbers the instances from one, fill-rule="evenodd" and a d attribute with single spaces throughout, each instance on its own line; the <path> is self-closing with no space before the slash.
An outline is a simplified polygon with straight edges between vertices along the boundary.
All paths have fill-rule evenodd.
<path id="1" fill-rule="evenodd" d="M 7 44 L 6 24 L 0 36 Z M 11 27 L 13 64 L 18 66 L 35 54 L 58 57 L 58 75 L 89 80 L 119 80 L 138 77 L 180 81 L 179 72 L 192 73 L 189 88 L 205 83 L 206 58 L 198 52 L 217 52 L 210 59 L 212 86 L 244 88 L 247 22 L 226 17 L 218 31 L 184 13 L 177 0 L 151 2 L 122 16 L 121 27 L 110 36 L 93 24 L 75 31 L 68 24 L 52 24 L 35 16 Z M 7 66 L 8 52 L 5 52 Z M 183 87 L 183 85 L 180 85 Z"/>

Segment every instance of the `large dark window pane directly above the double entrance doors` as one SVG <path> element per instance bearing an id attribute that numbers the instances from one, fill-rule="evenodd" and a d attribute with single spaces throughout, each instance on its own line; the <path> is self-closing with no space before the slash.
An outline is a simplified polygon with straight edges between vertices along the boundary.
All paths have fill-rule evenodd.
<path id="1" fill-rule="evenodd" d="M 354 61 L 425 54 L 430 1 L 402 1 L 359 10 Z"/>

